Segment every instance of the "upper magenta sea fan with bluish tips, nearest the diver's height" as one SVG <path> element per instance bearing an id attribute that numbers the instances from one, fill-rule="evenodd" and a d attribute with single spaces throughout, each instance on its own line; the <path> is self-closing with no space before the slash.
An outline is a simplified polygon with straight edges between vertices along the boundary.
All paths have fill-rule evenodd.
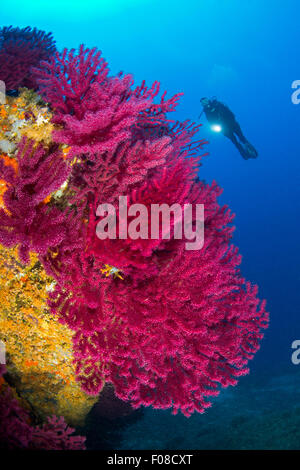
<path id="1" fill-rule="evenodd" d="M 71 147 L 69 157 L 113 152 L 128 142 L 139 123 L 149 130 L 157 127 L 165 113 L 173 111 L 179 94 L 159 105 L 153 100 L 159 83 L 132 89 L 133 79 L 122 73 L 109 76 L 107 62 L 97 49 L 83 45 L 79 51 L 65 49 L 33 69 L 40 92 L 55 111 L 53 122 L 60 129 L 53 133 L 56 142 Z"/>

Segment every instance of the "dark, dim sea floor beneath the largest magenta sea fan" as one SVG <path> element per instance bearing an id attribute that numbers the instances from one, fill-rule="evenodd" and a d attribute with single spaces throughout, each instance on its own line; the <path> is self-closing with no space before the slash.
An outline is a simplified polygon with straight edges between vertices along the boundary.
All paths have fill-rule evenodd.
<path id="1" fill-rule="evenodd" d="M 94 409 L 81 431 L 90 449 L 300 449 L 299 372 L 251 373 L 190 418 L 147 408 L 109 420 Z"/>

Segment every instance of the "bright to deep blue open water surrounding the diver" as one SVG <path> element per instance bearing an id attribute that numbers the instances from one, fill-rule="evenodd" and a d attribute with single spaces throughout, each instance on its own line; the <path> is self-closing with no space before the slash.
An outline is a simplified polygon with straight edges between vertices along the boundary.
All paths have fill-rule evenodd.
<path id="1" fill-rule="evenodd" d="M 112 73 L 136 83 L 161 82 L 169 96 L 184 92 L 176 118 L 197 120 L 202 96 L 216 95 L 236 114 L 259 152 L 245 161 L 205 118 L 200 138 L 210 156 L 200 177 L 224 188 L 236 214 L 242 271 L 268 301 L 270 328 L 251 374 L 221 393 L 204 415 L 173 417 L 145 410 L 107 429 L 91 416 L 92 448 L 300 448 L 300 365 L 291 343 L 300 338 L 300 79 L 297 0 L 14 1 L 0 7 L 2 25 L 52 31 L 59 49 L 97 46 Z M 122 424 L 122 426 L 121 426 Z"/>

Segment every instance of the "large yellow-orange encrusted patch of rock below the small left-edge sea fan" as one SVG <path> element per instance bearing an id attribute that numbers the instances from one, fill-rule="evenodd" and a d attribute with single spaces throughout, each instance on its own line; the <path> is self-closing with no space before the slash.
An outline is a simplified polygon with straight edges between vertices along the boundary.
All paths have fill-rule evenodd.
<path id="1" fill-rule="evenodd" d="M 21 265 L 17 250 L 0 245 L 0 339 L 17 391 L 38 415 L 62 415 L 79 424 L 96 398 L 81 391 L 72 364 L 72 333 L 48 311 L 53 279 L 32 255 Z"/>

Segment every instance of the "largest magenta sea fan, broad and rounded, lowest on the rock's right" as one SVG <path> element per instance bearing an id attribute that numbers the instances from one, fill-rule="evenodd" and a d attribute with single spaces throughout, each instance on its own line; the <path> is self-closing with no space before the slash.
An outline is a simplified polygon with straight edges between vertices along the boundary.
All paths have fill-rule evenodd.
<path id="1" fill-rule="evenodd" d="M 169 170 L 131 198 L 171 205 L 176 188 L 184 189 L 182 174 Z M 206 208 L 201 250 L 186 251 L 181 240 L 114 244 L 94 236 L 84 261 L 91 254 L 97 269 L 105 262 L 121 267 L 123 279 L 102 280 L 95 296 L 99 281 L 91 275 L 88 307 L 82 289 L 70 309 L 65 302 L 59 307 L 63 297 L 56 292 L 55 309 L 76 331 L 77 373 L 88 393 L 98 392 L 104 376 L 133 407 L 171 407 L 189 416 L 203 412 L 207 398 L 248 372 L 268 323 L 265 302 L 240 274 L 241 259 L 230 244 L 232 215 L 217 203 L 220 189 L 199 182 L 186 191 L 189 186 L 186 181 L 180 202 Z"/>

